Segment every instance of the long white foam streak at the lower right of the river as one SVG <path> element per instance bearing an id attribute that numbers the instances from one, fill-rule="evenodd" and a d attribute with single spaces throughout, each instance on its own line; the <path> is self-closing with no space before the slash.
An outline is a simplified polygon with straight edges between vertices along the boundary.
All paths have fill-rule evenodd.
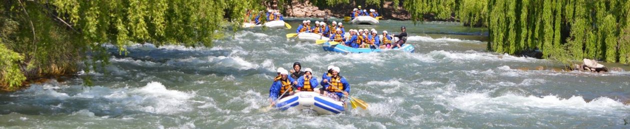
<path id="1" fill-rule="evenodd" d="M 490 97 L 488 93 L 466 93 L 447 99 L 455 108 L 476 113 L 510 113 L 511 111 L 566 111 L 597 112 L 599 114 L 616 114 L 627 111 L 630 106 L 606 97 L 587 102 L 582 96 L 558 98 L 558 96 L 519 96 L 503 95 Z M 544 110 L 541 110 L 544 109 Z"/>

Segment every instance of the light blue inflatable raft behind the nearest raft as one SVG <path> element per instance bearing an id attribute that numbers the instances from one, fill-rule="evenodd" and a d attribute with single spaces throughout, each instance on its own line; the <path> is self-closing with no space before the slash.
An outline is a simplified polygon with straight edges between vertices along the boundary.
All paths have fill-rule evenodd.
<path id="1" fill-rule="evenodd" d="M 411 44 L 403 44 L 403 46 L 401 46 L 401 48 L 394 48 L 394 49 L 370 49 L 370 48 L 352 48 L 350 46 L 345 46 L 343 44 L 335 44 L 335 45 L 330 45 L 329 42 L 326 42 L 323 44 L 322 48 L 324 48 L 325 51 L 334 51 L 337 53 L 379 53 L 379 52 L 383 52 L 383 51 L 406 51 L 406 52 L 410 52 L 413 53 L 413 51 L 415 51 L 415 48 L 411 45 Z"/>

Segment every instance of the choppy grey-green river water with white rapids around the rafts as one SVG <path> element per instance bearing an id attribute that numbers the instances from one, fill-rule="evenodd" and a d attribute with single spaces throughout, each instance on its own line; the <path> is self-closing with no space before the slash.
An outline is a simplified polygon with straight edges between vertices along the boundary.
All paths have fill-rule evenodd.
<path id="1" fill-rule="evenodd" d="M 290 22 L 293 26 L 302 19 Z M 136 44 L 91 75 L 0 95 L 4 128 L 630 128 L 630 73 L 533 70 L 558 67 L 485 51 L 485 29 L 459 23 L 407 26 L 415 53 L 340 54 L 285 38 L 294 29 L 230 32 L 212 48 Z M 109 46 L 112 53 L 117 49 Z M 300 62 L 320 77 L 341 68 L 367 110 L 339 115 L 261 111 L 275 70 Z M 532 70 L 518 70 L 531 68 Z M 627 68 L 626 68 L 627 70 Z M 321 78 L 318 78 L 321 80 Z"/>

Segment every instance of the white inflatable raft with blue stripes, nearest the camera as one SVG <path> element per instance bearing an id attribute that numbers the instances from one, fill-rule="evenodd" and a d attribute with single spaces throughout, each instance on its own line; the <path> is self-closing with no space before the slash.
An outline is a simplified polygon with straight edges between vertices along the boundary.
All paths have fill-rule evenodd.
<path id="1" fill-rule="evenodd" d="M 280 110 L 314 110 L 321 115 L 335 115 L 345 111 L 343 102 L 312 91 L 301 91 L 278 100 L 275 105 Z"/>

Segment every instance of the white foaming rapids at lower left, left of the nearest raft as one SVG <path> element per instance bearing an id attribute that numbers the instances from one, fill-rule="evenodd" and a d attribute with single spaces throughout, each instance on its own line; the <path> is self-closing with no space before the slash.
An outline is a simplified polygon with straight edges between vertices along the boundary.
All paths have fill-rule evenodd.
<path id="1" fill-rule="evenodd" d="M 77 93 L 59 93 L 54 89 L 44 89 L 42 85 L 31 85 L 22 95 L 32 96 L 35 100 L 93 100 L 93 110 L 131 110 L 150 113 L 173 114 L 191 111 L 188 100 L 195 96 L 177 90 L 168 90 L 159 82 L 147 83 L 140 88 L 107 88 L 91 86 L 74 88 L 81 89 Z M 72 86 L 73 88 L 76 86 Z M 67 86 L 66 86 L 67 88 Z M 63 89 L 63 88 L 62 88 Z M 62 90 L 60 89 L 60 90 Z M 106 99 L 106 101 L 103 101 Z M 88 110 L 86 110 L 88 111 Z M 79 113 L 86 113 L 86 111 Z"/>

